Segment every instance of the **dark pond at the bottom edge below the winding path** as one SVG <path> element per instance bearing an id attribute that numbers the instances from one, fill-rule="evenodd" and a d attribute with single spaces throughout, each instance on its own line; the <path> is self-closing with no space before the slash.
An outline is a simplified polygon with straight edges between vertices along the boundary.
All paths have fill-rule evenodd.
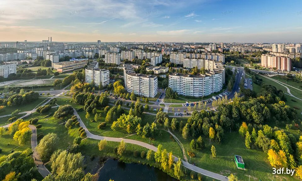
<path id="1" fill-rule="evenodd" d="M 99 172 L 99 181 L 177 181 L 158 168 L 109 159 Z"/>

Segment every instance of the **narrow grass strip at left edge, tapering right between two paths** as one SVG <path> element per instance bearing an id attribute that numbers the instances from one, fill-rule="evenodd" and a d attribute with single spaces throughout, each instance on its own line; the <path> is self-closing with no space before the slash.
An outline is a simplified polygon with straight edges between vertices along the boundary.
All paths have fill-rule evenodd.
<path id="1" fill-rule="evenodd" d="M 39 98 L 39 99 L 37 99 L 35 101 L 32 101 L 30 103 L 17 105 L 17 106 L 5 106 L 3 108 L 3 112 L 0 113 L 0 116 L 11 114 L 12 112 L 14 112 L 17 109 L 21 110 L 21 112 L 30 111 L 33 108 L 35 108 L 38 104 L 40 104 L 42 101 L 44 101 L 45 99 L 46 98 Z"/>

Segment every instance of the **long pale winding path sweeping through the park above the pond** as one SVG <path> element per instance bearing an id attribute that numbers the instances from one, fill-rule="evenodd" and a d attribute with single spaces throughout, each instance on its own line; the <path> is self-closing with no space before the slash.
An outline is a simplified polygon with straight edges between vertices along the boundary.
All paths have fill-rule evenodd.
<path id="1" fill-rule="evenodd" d="M 88 138 L 94 139 L 94 140 L 107 140 L 107 141 L 115 141 L 115 142 L 120 142 L 121 140 L 124 140 L 125 143 L 131 143 L 131 144 L 135 144 L 135 145 L 140 145 L 143 146 L 145 148 L 151 149 L 153 151 L 157 151 L 157 148 L 155 146 L 149 145 L 147 143 L 141 142 L 141 141 L 137 141 L 137 140 L 129 140 L 129 139 L 123 139 L 123 138 L 111 138 L 111 137 L 105 137 L 105 136 L 98 136 L 95 134 L 92 134 L 88 131 L 88 129 L 86 128 L 85 124 L 83 123 L 83 121 L 81 120 L 79 114 L 76 112 L 75 109 L 74 110 L 74 115 L 77 116 L 78 121 L 80 123 L 80 126 L 83 127 L 83 129 L 85 129 L 86 131 L 86 135 Z M 177 162 L 178 158 L 174 156 L 174 161 Z M 211 177 L 211 178 L 215 178 L 217 180 L 221 180 L 221 181 L 227 181 L 228 179 L 225 178 L 225 176 L 222 176 L 220 174 L 217 173 L 213 173 L 207 170 L 204 170 L 202 168 L 196 167 L 186 161 L 182 160 L 182 164 L 183 166 L 187 167 L 190 170 L 194 170 L 195 172 L 201 173 L 205 176 Z"/>

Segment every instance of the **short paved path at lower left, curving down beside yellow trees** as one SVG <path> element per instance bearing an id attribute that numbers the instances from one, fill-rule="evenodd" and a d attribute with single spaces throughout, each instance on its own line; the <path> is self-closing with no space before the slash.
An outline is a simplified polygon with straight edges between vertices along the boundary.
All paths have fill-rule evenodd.
<path id="1" fill-rule="evenodd" d="M 38 171 L 41 173 L 41 175 L 43 177 L 46 177 L 47 175 L 50 174 L 50 172 L 48 171 L 48 169 L 43 165 L 43 162 L 41 161 L 40 156 L 38 155 L 38 153 L 36 152 L 36 146 L 37 146 L 37 129 L 34 125 L 29 125 L 29 127 L 32 130 L 32 134 L 31 134 L 31 149 L 34 152 L 32 154 L 32 158 L 35 161 L 35 165 L 38 168 Z"/>

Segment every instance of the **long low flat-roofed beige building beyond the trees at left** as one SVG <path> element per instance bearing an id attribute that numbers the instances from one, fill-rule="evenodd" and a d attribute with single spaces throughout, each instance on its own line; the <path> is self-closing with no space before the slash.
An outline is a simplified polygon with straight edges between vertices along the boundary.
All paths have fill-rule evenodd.
<path id="1" fill-rule="evenodd" d="M 68 62 L 59 62 L 52 63 L 51 66 L 54 69 L 57 69 L 58 72 L 67 72 L 75 69 L 81 69 L 87 65 L 88 60 L 80 61 L 68 61 Z"/>

